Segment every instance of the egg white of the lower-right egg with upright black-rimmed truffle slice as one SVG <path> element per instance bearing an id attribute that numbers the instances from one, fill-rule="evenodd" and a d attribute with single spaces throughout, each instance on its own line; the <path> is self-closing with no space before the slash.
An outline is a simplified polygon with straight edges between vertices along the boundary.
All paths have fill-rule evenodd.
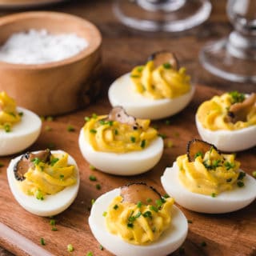
<path id="1" fill-rule="evenodd" d="M 249 174 L 243 179 L 245 186 L 237 186 L 234 190 L 222 192 L 213 198 L 186 190 L 179 181 L 178 172 L 177 162 L 174 162 L 172 167 L 166 168 L 161 182 L 166 193 L 186 209 L 206 214 L 222 214 L 242 209 L 256 198 L 256 180 Z"/>

